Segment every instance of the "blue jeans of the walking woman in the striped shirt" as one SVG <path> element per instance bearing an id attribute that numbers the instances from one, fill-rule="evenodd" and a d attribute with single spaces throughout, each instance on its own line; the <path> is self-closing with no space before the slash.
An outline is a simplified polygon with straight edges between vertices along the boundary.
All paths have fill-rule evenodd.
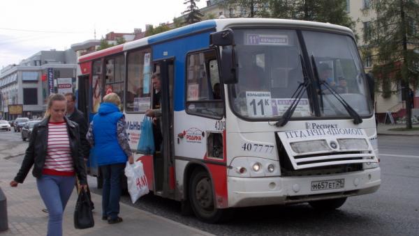
<path id="1" fill-rule="evenodd" d="M 74 188 L 74 176 L 43 175 L 36 179 L 39 194 L 47 207 L 47 236 L 63 235 L 63 214 Z"/>

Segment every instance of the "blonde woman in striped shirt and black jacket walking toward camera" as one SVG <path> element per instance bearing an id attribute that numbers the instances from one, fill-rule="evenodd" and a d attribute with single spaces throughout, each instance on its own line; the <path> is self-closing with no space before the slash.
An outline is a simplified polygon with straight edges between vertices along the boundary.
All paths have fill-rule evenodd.
<path id="1" fill-rule="evenodd" d="M 64 95 L 50 95 L 45 117 L 34 126 L 22 166 L 10 182 L 11 187 L 17 187 L 34 166 L 32 174 L 49 214 L 50 236 L 63 233 L 63 213 L 74 188 L 75 174 L 80 186 L 87 187 L 78 124 L 66 118 L 66 106 Z"/>

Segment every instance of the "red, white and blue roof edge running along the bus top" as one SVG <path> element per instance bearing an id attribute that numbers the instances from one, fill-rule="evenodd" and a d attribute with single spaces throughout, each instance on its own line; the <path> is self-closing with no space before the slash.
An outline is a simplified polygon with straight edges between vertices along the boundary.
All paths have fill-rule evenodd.
<path id="1" fill-rule="evenodd" d="M 96 58 L 101 58 L 103 56 L 108 56 L 112 54 L 117 54 L 119 52 L 124 52 L 129 49 L 134 49 L 137 47 L 142 47 L 145 45 L 152 45 L 172 38 L 179 38 L 181 36 L 186 36 L 193 33 L 198 33 L 200 31 L 207 31 L 210 29 L 216 29 L 216 31 L 222 31 L 231 26 L 289 26 L 293 28 L 301 29 L 323 29 L 325 31 L 335 31 L 337 33 L 347 33 L 353 36 L 351 29 L 348 29 L 345 26 L 339 26 L 336 24 L 330 23 L 321 23 L 321 22 L 307 22 L 303 20 L 295 19 L 272 19 L 272 18 L 228 18 L 228 19 L 210 19 L 203 22 L 198 22 L 195 24 L 189 24 L 187 26 L 182 26 L 177 29 L 172 29 L 170 31 L 165 31 L 163 33 L 156 34 L 154 36 L 149 36 L 146 38 L 140 38 L 131 42 L 126 42 L 122 45 L 116 45 L 107 49 L 103 49 L 98 52 L 92 52 L 78 58 L 79 63 L 85 61 L 91 61 Z"/>

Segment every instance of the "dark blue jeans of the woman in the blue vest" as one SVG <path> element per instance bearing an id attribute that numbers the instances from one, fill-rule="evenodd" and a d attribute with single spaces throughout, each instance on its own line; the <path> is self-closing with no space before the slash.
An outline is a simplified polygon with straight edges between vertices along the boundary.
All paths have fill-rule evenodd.
<path id="1" fill-rule="evenodd" d="M 103 175 L 102 216 L 117 219 L 121 197 L 121 175 L 125 163 L 101 166 Z"/>

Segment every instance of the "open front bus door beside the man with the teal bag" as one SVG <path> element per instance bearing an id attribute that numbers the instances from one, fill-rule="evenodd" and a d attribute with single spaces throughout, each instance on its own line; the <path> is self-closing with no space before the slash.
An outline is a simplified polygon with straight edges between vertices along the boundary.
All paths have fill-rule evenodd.
<path id="1" fill-rule="evenodd" d="M 174 58 L 154 61 L 154 72 L 160 72 L 161 110 L 160 125 L 163 141 L 154 155 L 154 193 L 173 198 L 175 194 L 175 171 L 173 162 L 173 80 Z"/>

